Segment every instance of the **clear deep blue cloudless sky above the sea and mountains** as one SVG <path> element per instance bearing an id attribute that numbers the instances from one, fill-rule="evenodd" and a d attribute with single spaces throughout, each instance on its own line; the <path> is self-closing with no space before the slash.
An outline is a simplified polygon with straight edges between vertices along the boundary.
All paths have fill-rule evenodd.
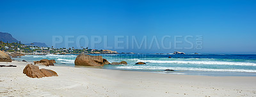
<path id="1" fill-rule="evenodd" d="M 3 1 L 0 0 L 0 31 L 22 43 L 44 42 L 52 46 L 52 36 L 129 36 L 129 46 L 118 52 L 256 52 L 256 1 Z M 152 36 L 174 43 L 174 36 L 191 35 L 191 49 L 149 48 Z M 203 48 L 195 49 L 196 35 L 203 36 Z M 147 48 L 131 48 L 131 37 Z M 181 38 L 182 41 L 184 41 Z M 73 39 L 72 39 L 73 40 Z M 102 39 L 103 40 L 103 39 Z M 126 37 L 120 38 L 126 43 Z M 102 42 L 103 43 L 103 42 Z M 95 46 L 104 48 L 102 43 Z M 83 44 L 83 41 L 81 42 Z M 161 44 L 161 43 L 160 43 Z M 72 47 L 70 45 L 68 47 Z M 82 45 L 83 46 L 83 45 Z M 121 44 L 122 46 L 122 44 Z M 188 44 L 180 43 L 179 47 Z M 57 47 L 65 47 L 60 44 Z M 85 47 L 85 46 L 84 46 Z M 89 45 L 91 47 L 91 45 Z"/>

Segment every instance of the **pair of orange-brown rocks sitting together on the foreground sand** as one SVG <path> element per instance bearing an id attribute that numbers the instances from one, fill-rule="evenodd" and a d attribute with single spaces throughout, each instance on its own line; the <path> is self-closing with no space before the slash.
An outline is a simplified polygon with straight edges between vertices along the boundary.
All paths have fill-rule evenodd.
<path id="1" fill-rule="evenodd" d="M 32 77 L 32 78 L 58 76 L 58 74 L 55 71 L 47 70 L 44 68 L 39 70 L 39 67 L 33 64 L 28 64 L 24 68 L 23 73 L 26 74 L 28 77 Z"/>

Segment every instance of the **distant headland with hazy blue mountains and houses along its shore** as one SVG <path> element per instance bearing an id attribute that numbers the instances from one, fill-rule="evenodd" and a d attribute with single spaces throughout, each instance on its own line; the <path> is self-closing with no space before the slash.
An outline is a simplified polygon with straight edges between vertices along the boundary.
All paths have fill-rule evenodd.
<path id="1" fill-rule="evenodd" d="M 0 50 L 4 52 L 20 52 L 22 54 L 118 54 L 118 52 L 112 50 L 97 50 L 88 47 L 81 47 L 81 49 L 74 47 L 53 48 L 41 42 L 21 43 L 21 41 L 13 38 L 12 34 L 2 32 L 0 32 L 0 45 Z"/>

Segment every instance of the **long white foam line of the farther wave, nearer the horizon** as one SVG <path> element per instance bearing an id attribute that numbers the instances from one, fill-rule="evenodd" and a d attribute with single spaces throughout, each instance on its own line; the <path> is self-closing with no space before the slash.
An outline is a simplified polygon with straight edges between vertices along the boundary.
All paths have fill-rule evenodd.
<path id="1" fill-rule="evenodd" d="M 175 63 L 175 64 L 224 64 L 224 65 L 256 66 L 256 63 L 223 62 L 223 61 L 157 61 L 157 60 L 140 60 L 140 59 L 138 59 L 137 62 Z"/>

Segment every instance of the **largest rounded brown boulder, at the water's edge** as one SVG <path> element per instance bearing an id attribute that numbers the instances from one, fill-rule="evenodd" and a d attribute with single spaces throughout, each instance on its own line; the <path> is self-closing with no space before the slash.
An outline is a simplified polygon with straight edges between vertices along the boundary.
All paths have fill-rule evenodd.
<path id="1" fill-rule="evenodd" d="M 102 56 L 79 54 L 75 60 L 76 66 L 104 66 Z"/>

